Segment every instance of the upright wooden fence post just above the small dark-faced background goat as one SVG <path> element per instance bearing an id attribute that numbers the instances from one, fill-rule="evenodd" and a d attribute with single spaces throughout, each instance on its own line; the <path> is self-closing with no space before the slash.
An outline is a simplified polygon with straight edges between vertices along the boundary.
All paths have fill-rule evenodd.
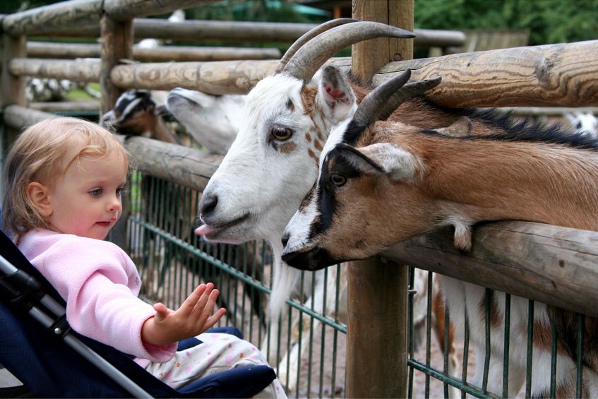
<path id="1" fill-rule="evenodd" d="M 102 98 L 100 100 L 100 115 L 108 112 L 118 99 L 123 90 L 116 87 L 110 80 L 112 68 L 119 64 L 121 59 L 133 59 L 133 19 L 114 20 L 107 15 L 100 21 L 102 32 L 102 67 L 100 71 L 100 87 Z M 123 215 L 111 232 L 111 240 L 121 248 L 126 248 L 128 239 L 126 234 L 126 219 L 128 204 L 123 198 Z"/>

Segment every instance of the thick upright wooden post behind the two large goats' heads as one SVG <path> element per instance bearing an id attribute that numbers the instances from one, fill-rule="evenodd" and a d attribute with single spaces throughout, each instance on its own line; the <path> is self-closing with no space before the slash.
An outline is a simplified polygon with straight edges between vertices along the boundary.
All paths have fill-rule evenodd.
<path id="1" fill-rule="evenodd" d="M 413 30 L 413 0 L 353 0 L 353 18 Z M 379 38 L 352 47 L 352 73 L 370 81 L 390 61 L 410 59 L 412 40 Z M 375 257 L 349 263 L 347 398 L 407 395 L 408 268 Z"/>

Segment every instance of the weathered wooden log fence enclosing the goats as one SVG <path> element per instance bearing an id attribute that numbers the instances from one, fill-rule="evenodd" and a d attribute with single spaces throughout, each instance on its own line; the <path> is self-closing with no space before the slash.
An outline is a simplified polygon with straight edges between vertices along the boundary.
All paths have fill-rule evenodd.
<path id="1" fill-rule="evenodd" d="M 130 88 L 169 90 L 180 86 L 213 94 L 247 93 L 261 78 L 273 73 L 277 64 L 275 59 L 140 64 L 123 64 L 121 60 L 135 58 L 134 37 L 168 37 L 175 40 L 189 40 L 190 37 L 239 40 L 243 37 L 243 40 L 286 42 L 296 39 L 313 26 L 214 21 L 174 25 L 148 19 L 133 20 L 138 16 L 167 13 L 208 2 L 77 0 L 3 16 L 0 20 L 0 106 L 4 108 L 6 143 L 13 141 L 23 126 L 47 117 L 44 112 L 25 107 L 25 76 L 100 82 L 102 112 L 114 105 L 116 97 L 123 90 Z M 363 3 L 354 1 L 354 13 L 364 18 L 377 18 L 359 8 L 360 4 Z M 386 22 L 402 23 L 403 28 L 409 28 L 409 25 L 412 26 L 413 3 L 407 0 L 399 4 L 403 11 L 400 15 L 407 15 L 406 19 L 401 21 L 395 18 Z M 392 5 L 389 8 L 397 12 Z M 415 32 L 419 37 L 415 45 L 448 47 L 462 44 L 463 37 L 458 33 L 430 30 Z M 73 61 L 28 58 L 28 52 L 40 57 L 51 56 L 49 48 L 44 52 L 27 41 L 30 36 L 42 34 L 99 36 L 101 59 Z M 412 51 L 409 46 L 412 46 L 411 42 L 402 50 L 402 54 L 408 55 Z M 356 49 L 354 54 L 359 54 L 359 48 Z M 75 47 L 72 47 L 72 51 L 74 54 Z M 89 51 L 94 56 L 98 54 L 97 46 Z M 72 55 L 64 52 L 61 56 Z M 181 54 L 169 56 L 182 59 L 179 58 Z M 428 97 L 446 107 L 598 106 L 598 40 L 453 54 L 433 59 L 408 58 L 402 56 L 402 61 L 391 62 L 388 59 L 378 60 L 378 65 L 360 66 L 359 70 L 368 76 L 373 73 L 370 72 L 372 69 L 377 71 L 382 66 L 373 75 L 373 83 L 385 81 L 407 68 L 412 69 L 414 79 L 442 76 L 443 84 L 431 90 Z M 352 59 L 349 58 L 333 59 L 331 62 L 341 69 L 352 68 Z M 136 165 L 144 172 L 177 181 L 198 191 L 203 190 L 222 160 L 218 155 L 141 137 L 129 138 L 126 146 L 135 158 Z M 438 271 L 467 282 L 598 316 L 598 308 L 592 306 L 598 303 L 598 290 L 595 288 L 598 287 L 598 232 L 525 222 L 489 223 L 476 229 L 474 251 L 466 255 L 453 249 L 449 235 L 448 232 L 438 232 L 412 239 L 397 244 L 382 255 L 395 263 Z M 520 256 L 520 249 L 515 245 L 521 242 L 522 237 L 527 243 L 525 256 Z M 405 287 L 400 290 L 405 290 Z M 349 291 L 349 295 L 355 294 Z M 349 303 L 351 306 L 360 306 L 357 300 L 352 302 L 349 299 Z M 359 314 L 358 308 L 355 311 Z M 349 330 L 349 342 L 351 334 Z M 398 345 L 405 347 L 404 337 L 402 339 Z M 388 343 L 376 344 L 388 351 Z M 368 358 L 364 353 L 360 355 L 362 359 Z M 379 362 L 379 359 L 373 359 L 373 362 Z M 387 372 L 379 376 L 359 373 L 357 367 L 354 367 L 354 372 L 347 370 L 347 385 L 353 387 L 347 390 L 348 396 L 363 396 L 364 393 L 405 396 L 404 383 L 393 386 L 394 391 L 386 388 L 365 391 L 366 387 L 376 386 L 376 383 L 380 386 L 388 383 L 391 374 Z M 397 379 L 396 374 L 394 379 Z"/>

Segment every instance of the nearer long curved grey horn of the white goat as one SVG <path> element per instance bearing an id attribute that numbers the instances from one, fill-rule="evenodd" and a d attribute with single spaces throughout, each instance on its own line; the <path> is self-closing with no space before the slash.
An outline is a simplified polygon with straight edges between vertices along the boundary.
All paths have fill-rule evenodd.
<path id="1" fill-rule="evenodd" d="M 337 26 L 318 35 L 317 40 L 310 40 L 297 50 L 289 59 L 282 72 L 304 82 L 311 81 L 313 75 L 331 56 L 341 49 L 376 37 L 413 38 L 412 32 L 395 28 L 384 23 L 359 21 Z"/>

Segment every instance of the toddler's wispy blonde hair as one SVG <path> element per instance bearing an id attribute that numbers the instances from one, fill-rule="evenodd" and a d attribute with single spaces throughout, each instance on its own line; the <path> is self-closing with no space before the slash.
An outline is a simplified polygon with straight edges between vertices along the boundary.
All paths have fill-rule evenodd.
<path id="1" fill-rule="evenodd" d="M 20 133 L 6 157 L 4 166 L 2 225 L 16 239 L 29 230 L 47 228 L 47 220 L 27 195 L 28 185 L 39 181 L 54 183 L 73 162 L 85 156 L 123 155 L 128 168 L 128 153 L 113 133 L 83 119 L 56 117 L 45 119 Z"/>

